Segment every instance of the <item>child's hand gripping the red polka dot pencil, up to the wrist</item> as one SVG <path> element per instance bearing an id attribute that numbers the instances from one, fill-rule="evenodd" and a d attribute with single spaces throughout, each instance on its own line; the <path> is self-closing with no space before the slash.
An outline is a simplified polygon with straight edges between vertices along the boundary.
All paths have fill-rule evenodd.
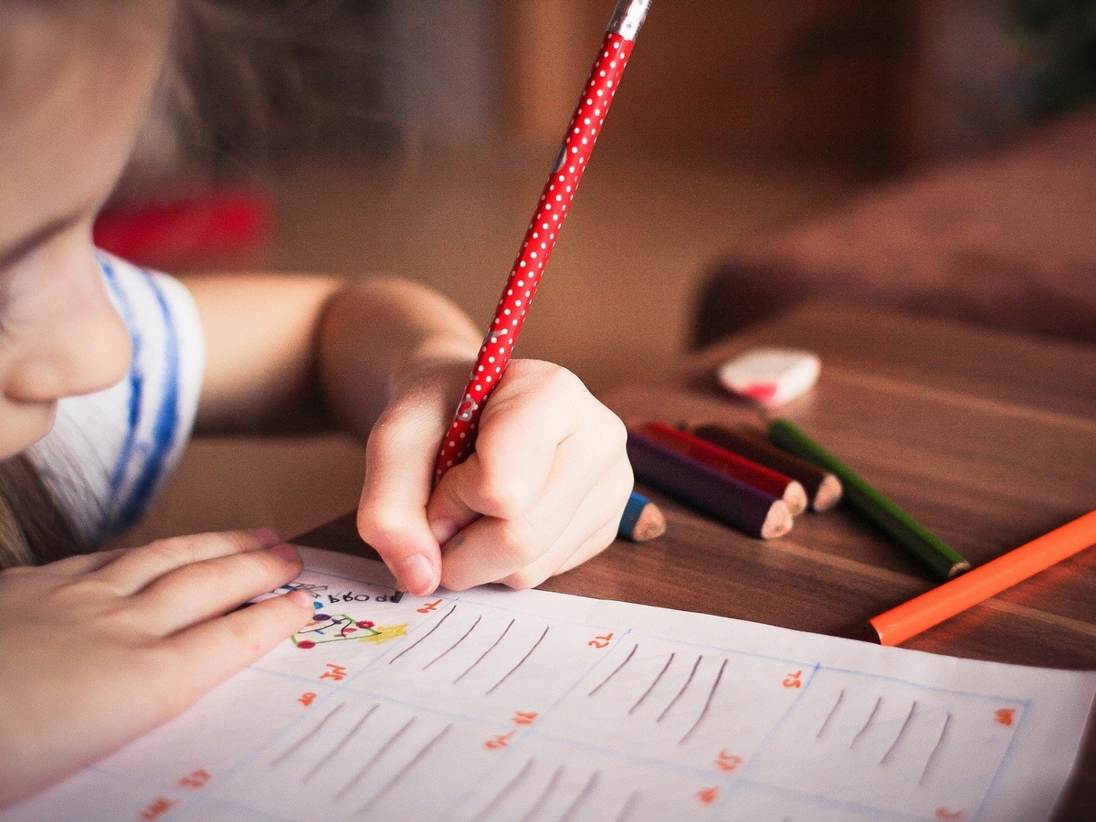
<path id="1" fill-rule="evenodd" d="M 399 380 L 368 439 L 358 530 L 416 595 L 537 585 L 608 546 L 631 492 L 620 420 L 573 374 L 530 359 L 510 364 L 476 452 L 432 492 L 468 373 L 449 362 Z"/>

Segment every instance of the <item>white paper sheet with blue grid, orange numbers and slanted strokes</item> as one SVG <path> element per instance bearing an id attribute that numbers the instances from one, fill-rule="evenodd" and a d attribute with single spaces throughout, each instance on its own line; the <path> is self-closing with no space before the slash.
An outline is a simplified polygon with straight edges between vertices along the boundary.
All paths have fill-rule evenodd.
<path id="1" fill-rule="evenodd" d="M 0 820 L 1050 817 L 1096 674 L 539 591 L 393 602 L 304 549 L 310 625 Z"/>

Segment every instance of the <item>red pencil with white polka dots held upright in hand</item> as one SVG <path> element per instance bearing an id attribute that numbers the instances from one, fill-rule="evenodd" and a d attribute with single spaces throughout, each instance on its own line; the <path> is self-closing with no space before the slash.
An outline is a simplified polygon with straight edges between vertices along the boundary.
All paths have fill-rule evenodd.
<path id="1" fill-rule="evenodd" d="M 434 467 L 436 483 L 449 468 L 471 454 L 483 404 L 502 379 L 517 335 L 525 322 L 540 276 L 551 256 L 567 210 L 590 161 L 602 124 L 631 55 L 636 35 L 651 0 L 621 0 L 605 32 L 605 41 L 568 125 L 559 156 L 545 184 L 533 220 L 522 240 L 514 267 L 506 279 L 494 320 L 483 340 L 456 416 L 442 439 Z"/>

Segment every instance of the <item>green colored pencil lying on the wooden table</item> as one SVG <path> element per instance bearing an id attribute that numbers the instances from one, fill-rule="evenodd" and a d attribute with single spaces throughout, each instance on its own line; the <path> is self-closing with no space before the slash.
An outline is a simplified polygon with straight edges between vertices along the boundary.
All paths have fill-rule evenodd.
<path id="1" fill-rule="evenodd" d="M 845 486 L 845 499 L 876 525 L 927 564 L 941 580 L 950 580 L 970 570 L 970 562 L 949 548 L 939 537 L 898 505 L 869 486 L 863 477 L 837 459 L 788 420 L 773 420 L 768 436 L 775 445 L 833 472 Z"/>

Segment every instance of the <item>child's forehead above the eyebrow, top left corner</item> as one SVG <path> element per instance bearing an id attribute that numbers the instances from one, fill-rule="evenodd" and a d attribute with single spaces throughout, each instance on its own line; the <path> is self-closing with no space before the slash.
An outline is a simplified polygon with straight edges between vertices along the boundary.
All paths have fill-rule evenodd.
<path id="1" fill-rule="evenodd" d="M 152 7 L 0 0 L 0 235 L 110 193 L 163 58 Z"/>

